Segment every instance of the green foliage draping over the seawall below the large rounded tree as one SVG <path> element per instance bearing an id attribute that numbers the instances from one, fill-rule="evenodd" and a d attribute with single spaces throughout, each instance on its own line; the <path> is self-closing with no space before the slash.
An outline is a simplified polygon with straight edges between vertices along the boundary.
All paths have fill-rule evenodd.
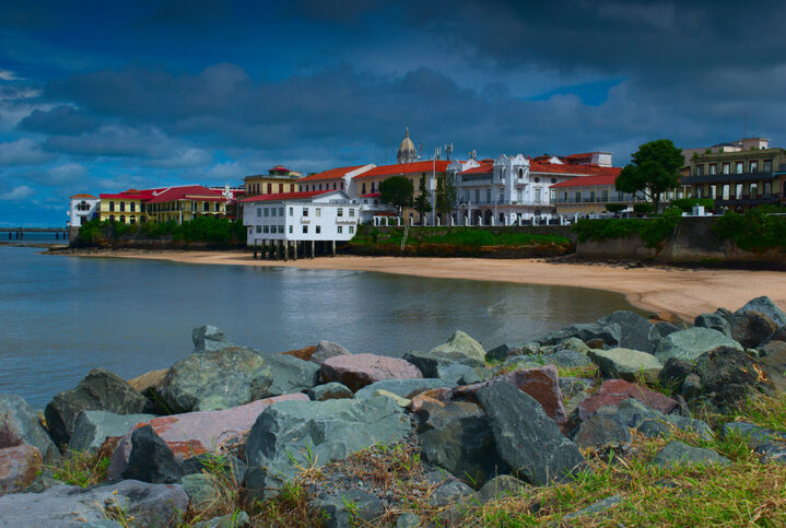
<path id="1" fill-rule="evenodd" d="M 671 233 L 682 218 L 682 210 L 668 208 L 664 215 L 653 220 L 642 219 L 598 219 L 579 220 L 573 226 L 573 232 L 578 235 L 579 242 L 607 240 L 611 238 L 624 238 L 631 235 L 642 237 L 645 246 L 657 247 Z"/>

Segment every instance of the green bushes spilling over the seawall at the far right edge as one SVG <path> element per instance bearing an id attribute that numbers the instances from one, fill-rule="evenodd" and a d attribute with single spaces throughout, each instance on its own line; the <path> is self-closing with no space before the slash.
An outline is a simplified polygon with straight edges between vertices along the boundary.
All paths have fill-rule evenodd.
<path id="1" fill-rule="evenodd" d="M 713 233 L 750 251 L 786 247 L 786 215 L 771 214 L 778 212 L 786 213 L 786 210 L 760 206 L 744 214 L 727 211 L 713 225 Z"/>

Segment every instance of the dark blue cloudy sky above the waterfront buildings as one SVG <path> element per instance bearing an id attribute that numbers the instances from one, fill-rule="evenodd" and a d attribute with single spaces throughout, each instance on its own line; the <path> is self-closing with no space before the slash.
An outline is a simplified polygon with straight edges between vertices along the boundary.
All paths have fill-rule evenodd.
<path id="1" fill-rule="evenodd" d="M 0 2 L 0 226 L 74 193 L 430 159 L 786 145 L 786 2 Z M 747 128 L 746 128 L 747 126 Z"/>

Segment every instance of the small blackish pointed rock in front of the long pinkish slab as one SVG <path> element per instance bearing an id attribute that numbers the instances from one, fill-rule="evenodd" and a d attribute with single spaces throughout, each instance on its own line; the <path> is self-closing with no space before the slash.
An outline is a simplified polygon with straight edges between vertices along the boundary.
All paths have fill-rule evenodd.
<path id="1" fill-rule="evenodd" d="M 152 484 L 174 484 L 184 474 L 183 465 L 153 427 L 145 425 L 131 433 L 131 454 L 122 471 L 124 479 Z"/>

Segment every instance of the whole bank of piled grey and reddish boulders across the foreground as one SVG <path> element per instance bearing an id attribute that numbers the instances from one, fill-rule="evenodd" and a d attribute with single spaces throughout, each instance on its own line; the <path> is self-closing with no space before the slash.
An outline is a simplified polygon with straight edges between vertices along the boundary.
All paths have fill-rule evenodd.
<path id="1" fill-rule="evenodd" d="M 483 524 L 501 496 L 559 524 L 635 508 L 543 503 L 598 464 L 728 468 L 728 438 L 786 461 L 786 431 L 728 420 L 786 388 L 786 314 L 760 297 L 693 322 L 617 312 L 489 350 L 457 331 L 403 359 L 200 327 L 171 368 L 95 369 L 44 413 L 0 395 L 0 526 Z"/>

